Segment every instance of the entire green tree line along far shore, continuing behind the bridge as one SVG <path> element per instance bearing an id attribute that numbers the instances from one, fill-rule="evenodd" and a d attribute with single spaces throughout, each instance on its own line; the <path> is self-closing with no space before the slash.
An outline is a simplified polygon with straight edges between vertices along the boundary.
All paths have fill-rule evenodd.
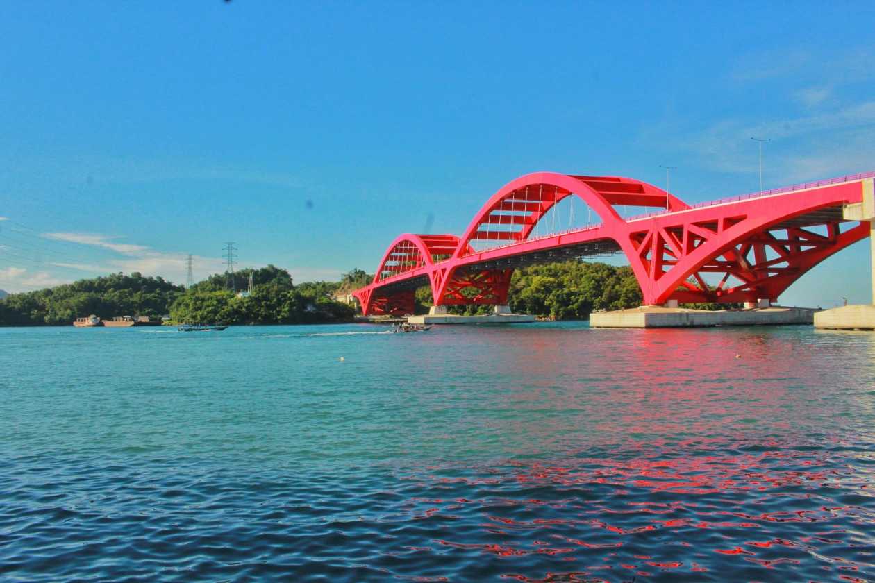
<path id="1" fill-rule="evenodd" d="M 248 288 L 251 294 L 240 294 Z M 133 273 L 110 274 L 76 281 L 56 288 L 11 294 L 0 300 L 0 325 L 32 326 L 69 324 L 77 317 L 169 315 L 174 323 L 332 323 L 351 322 L 356 309 L 337 302 L 367 285 L 372 275 L 361 269 L 343 274 L 340 281 L 306 281 L 295 284 L 285 269 L 269 265 L 242 269 L 235 274 L 235 288 L 226 274 L 214 274 L 190 288 L 161 277 Z M 600 262 L 568 260 L 514 270 L 508 302 L 514 312 L 556 320 L 586 319 L 596 310 L 634 308 L 641 305 L 641 288 L 630 267 Z M 416 312 L 431 305 L 430 288 L 416 291 Z M 465 314 L 487 313 L 491 306 L 454 306 Z"/>

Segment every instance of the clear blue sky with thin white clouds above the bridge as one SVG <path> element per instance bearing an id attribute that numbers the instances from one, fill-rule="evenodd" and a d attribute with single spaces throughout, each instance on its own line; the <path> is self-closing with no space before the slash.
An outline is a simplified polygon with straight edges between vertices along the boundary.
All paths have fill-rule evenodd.
<path id="1" fill-rule="evenodd" d="M 373 271 L 535 170 L 688 202 L 875 170 L 872 3 L 0 1 L 0 288 Z M 13 254 L 14 253 L 14 254 Z M 867 242 L 781 297 L 870 302 Z"/>

